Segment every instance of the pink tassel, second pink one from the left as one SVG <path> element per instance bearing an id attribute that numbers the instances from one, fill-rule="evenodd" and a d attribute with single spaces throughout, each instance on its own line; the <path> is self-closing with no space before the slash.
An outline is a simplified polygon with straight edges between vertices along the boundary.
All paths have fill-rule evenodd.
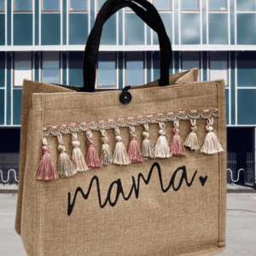
<path id="1" fill-rule="evenodd" d="M 89 169 L 96 169 L 102 167 L 102 162 L 99 160 L 98 155 L 96 154 L 96 149 L 93 146 L 92 133 L 91 131 L 86 131 L 86 136 L 88 138 L 88 151 L 87 151 L 87 159 L 86 164 Z"/>

